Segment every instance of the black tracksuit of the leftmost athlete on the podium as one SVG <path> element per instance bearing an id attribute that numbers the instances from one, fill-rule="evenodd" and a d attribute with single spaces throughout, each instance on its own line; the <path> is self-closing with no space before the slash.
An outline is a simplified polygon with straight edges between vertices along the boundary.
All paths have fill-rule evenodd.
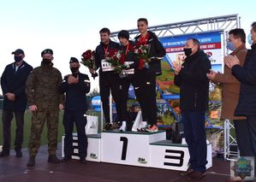
<path id="1" fill-rule="evenodd" d="M 121 95 L 119 89 L 121 79 L 118 73 L 113 71 L 103 72 L 102 69 L 102 60 L 104 60 L 105 54 L 110 50 L 120 50 L 120 45 L 110 40 L 108 45 L 100 43 L 95 50 L 95 64 L 96 68 L 99 68 L 99 90 L 106 123 L 110 123 L 110 91 L 116 103 L 117 120 L 121 120 Z"/>

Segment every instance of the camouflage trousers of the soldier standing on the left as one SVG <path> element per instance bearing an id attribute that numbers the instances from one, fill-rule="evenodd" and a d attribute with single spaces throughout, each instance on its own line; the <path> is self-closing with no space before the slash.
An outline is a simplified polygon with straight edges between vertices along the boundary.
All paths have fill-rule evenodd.
<path id="1" fill-rule="evenodd" d="M 30 140 L 28 144 L 29 156 L 36 156 L 41 144 L 41 134 L 44 129 L 45 121 L 48 129 L 48 153 L 55 155 L 57 150 L 57 131 L 58 131 L 58 110 L 36 111 L 32 114 L 32 126 Z"/>

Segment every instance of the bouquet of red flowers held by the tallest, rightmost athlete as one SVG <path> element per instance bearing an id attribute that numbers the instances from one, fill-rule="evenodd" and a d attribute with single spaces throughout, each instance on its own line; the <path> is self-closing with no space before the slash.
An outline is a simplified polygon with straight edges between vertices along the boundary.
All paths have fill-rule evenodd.
<path id="1" fill-rule="evenodd" d="M 138 56 L 139 59 L 144 61 L 145 67 L 148 68 L 148 63 L 151 62 L 150 44 L 141 44 L 140 42 L 136 43 L 134 54 Z"/>

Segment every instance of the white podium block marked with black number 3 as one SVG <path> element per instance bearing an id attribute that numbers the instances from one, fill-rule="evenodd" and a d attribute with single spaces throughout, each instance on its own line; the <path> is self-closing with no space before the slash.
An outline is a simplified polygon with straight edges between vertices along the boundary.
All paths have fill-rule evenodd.
<path id="1" fill-rule="evenodd" d="M 178 171 L 188 169 L 189 152 L 187 144 L 172 144 L 170 140 L 150 144 L 151 167 L 165 168 Z M 208 163 L 212 167 L 211 144 L 207 144 Z"/>

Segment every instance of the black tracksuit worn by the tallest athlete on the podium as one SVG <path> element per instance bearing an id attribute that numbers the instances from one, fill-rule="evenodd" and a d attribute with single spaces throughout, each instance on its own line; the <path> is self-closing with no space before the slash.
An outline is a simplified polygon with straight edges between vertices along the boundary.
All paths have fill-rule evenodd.
<path id="1" fill-rule="evenodd" d="M 150 56 L 164 57 L 166 53 L 157 35 L 150 31 L 148 33 L 149 38 L 146 40 L 146 44 L 151 45 Z M 140 36 L 135 38 L 135 43 L 140 41 Z M 138 68 L 136 73 L 136 81 L 139 85 L 135 87 L 136 96 L 140 103 L 142 118 L 150 125 L 157 124 L 156 76 L 161 73 L 160 59 L 152 59 L 149 68 Z"/>

